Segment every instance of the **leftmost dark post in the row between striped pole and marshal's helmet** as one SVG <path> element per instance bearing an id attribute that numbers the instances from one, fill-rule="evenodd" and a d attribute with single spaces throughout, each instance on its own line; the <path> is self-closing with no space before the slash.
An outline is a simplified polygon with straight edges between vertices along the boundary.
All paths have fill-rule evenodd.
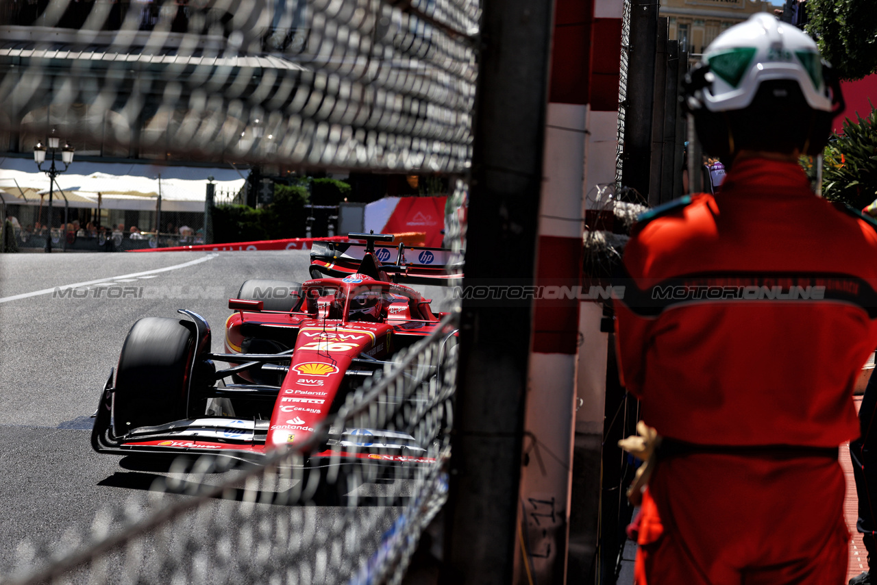
<path id="1" fill-rule="evenodd" d="M 625 187 L 637 189 L 644 197 L 649 190 L 652 160 L 652 96 L 657 33 L 658 3 L 654 0 L 631 0 L 631 42 L 627 72 L 629 89 L 624 117 L 621 180 Z"/>

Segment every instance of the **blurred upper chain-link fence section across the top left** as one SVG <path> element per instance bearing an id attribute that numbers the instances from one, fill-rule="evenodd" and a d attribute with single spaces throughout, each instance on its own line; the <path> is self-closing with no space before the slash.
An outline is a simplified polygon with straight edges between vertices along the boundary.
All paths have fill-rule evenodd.
<path id="1" fill-rule="evenodd" d="M 28 30 L 0 43 L 0 128 L 25 151 L 54 131 L 78 153 L 468 167 L 477 0 L 4 6 Z"/>

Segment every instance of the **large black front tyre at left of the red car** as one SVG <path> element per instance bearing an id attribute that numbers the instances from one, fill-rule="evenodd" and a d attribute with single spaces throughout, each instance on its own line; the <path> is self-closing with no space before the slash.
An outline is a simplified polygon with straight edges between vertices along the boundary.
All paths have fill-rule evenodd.
<path id="1" fill-rule="evenodd" d="M 187 380 L 195 351 L 188 321 L 145 317 L 135 323 L 118 357 L 113 393 L 117 437 L 140 426 L 186 418 Z"/>

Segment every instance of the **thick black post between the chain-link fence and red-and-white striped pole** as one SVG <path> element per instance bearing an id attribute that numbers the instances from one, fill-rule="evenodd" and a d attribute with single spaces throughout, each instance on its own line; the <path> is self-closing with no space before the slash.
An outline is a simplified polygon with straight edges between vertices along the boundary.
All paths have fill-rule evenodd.
<path id="1" fill-rule="evenodd" d="M 484 0 L 466 279 L 533 283 L 553 2 Z M 517 553 L 531 301 L 464 297 L 441 582 L 508 585 Z"/>

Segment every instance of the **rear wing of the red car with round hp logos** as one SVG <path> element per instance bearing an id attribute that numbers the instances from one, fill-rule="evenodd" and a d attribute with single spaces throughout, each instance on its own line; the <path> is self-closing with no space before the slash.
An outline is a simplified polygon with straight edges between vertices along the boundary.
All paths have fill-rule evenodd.
<path id="1" fill-rule="evenodd" d="M 352 238 L 357 235 L 360 234 L 350 234 Z M 379 235 L 384 234 L 374 234 Z M 453 250 L 403 244 L 381 246 L 373 239 L 369 239 L 366 244 L 314 242 L 310 248 L 310 276 L 322 278 L 355 274 L 368 252 L 372 252 L 375 260 L 378 260 L 378 270 L 385 272 L 394 282 L 442 286 L 456 284 L 463 277 L 460 254 Z"/>

